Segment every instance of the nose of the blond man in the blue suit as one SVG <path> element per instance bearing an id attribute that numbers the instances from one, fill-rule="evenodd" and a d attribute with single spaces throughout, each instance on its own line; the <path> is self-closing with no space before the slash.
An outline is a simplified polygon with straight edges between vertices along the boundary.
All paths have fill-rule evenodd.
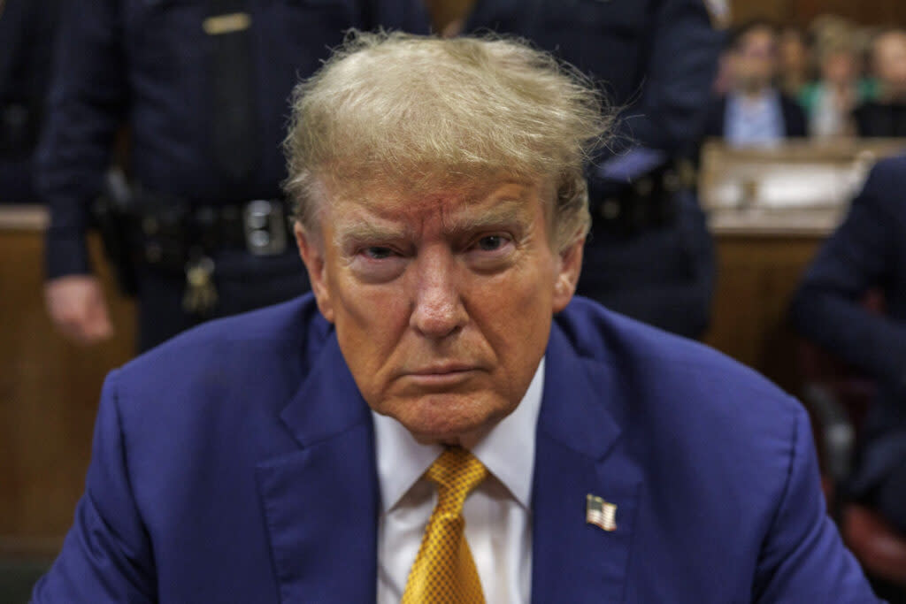
<path id="1" fill-rule="evenodd" d="M 460 297 L 456 265 L 450 254 L 426 254 L 419 262 L 418 283 L 410 325 L 422 335 L 439 339 L 467 321 Z"/>

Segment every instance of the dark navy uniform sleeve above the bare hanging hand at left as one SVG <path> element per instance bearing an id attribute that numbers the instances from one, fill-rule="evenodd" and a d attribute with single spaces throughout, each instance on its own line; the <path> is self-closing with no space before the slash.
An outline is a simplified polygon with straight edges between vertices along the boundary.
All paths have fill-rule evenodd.
<path id="1" fill-rule="evenodd" d="M 50 278 L 87 273 L 88 208 L 101 190 L 127 97 L 120 0 L 63 3 L 37 186 L 50 207 Z"/>

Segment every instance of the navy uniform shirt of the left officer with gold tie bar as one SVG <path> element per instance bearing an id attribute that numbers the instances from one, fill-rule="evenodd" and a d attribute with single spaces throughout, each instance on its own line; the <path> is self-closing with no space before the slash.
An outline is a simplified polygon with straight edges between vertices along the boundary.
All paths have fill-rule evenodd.
<path id="1" fill-rule="evenodd" d="M 128 123 L 131 176 L 143 187 L 198 204 L 280 195 L 280 143 L 288 97 L 350 27 L 399 26 L 396 0 L 246 0 L 251 43 L 256 164 L 227 183 L 212 158 L 211 44 L 205 0 L 67 0 L 39 186 L 52 213 L 50 278 L 89 270 L 88 207 Z"/>

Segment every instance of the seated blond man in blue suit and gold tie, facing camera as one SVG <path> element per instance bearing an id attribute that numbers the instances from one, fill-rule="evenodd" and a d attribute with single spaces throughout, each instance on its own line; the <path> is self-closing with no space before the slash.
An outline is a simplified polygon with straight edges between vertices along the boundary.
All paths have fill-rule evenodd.
<path id="1" fill-rule="evenodd" d="M 348 41 L 286 141 L 313 295 L 111 374 L 34 601 L 877 601 L 794 400 L 573 300 L 607 126 L 519 43 Z"/>

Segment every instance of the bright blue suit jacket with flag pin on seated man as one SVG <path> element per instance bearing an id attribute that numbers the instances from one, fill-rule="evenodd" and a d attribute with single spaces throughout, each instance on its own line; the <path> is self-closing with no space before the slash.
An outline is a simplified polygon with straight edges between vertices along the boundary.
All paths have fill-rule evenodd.
<path id="1" fill-rule="evenodd" d="M 874 602 L 824 513 L 803 409 L 576 300 L 546 351 L 535 602 Z M 369 602 L 369 408 L 311 297 L 111 373 L 84 497 L 34 601 Z M 586 494 L 617 508 L 585 523 Z"/>

